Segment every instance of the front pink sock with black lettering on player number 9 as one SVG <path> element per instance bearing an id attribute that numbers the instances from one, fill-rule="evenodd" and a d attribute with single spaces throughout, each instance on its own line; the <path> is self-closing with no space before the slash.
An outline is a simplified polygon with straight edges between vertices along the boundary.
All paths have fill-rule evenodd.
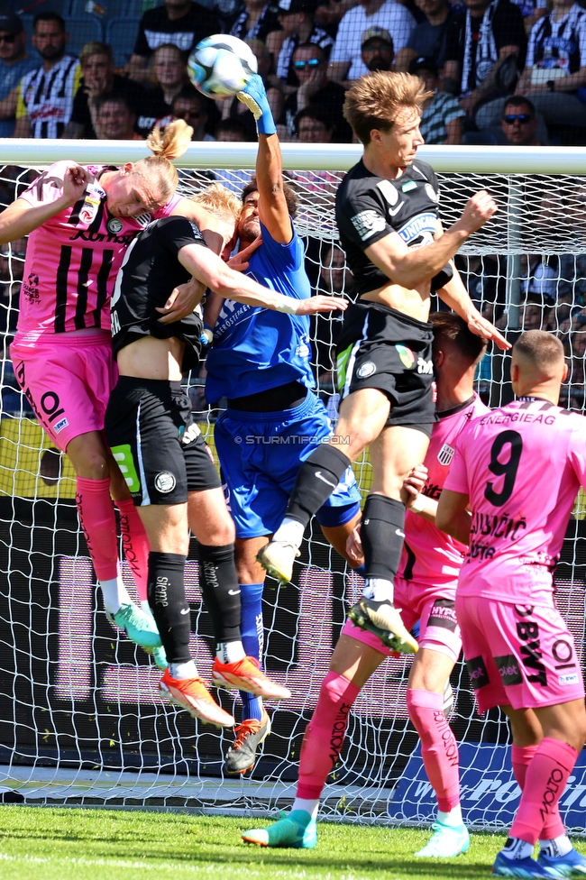
<path id="1" fill-rule="evenodd" d="M 559 739 L 542 739 L 526 767 L 521 802 L 509 832 L 511 837 L 526 840 L 533 846 L 547 825 L 548 836 L 543 839 L 550 839 L 550 826 L 559 817 L 558 802 L 577 760 L 578 752 L 572 746 Z"/>

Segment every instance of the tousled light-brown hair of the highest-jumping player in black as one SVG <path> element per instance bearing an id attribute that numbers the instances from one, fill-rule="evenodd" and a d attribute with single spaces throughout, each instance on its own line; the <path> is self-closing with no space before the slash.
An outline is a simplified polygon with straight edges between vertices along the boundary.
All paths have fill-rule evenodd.
<path id="1" fill-rule="evenodd" d="M 433 94 L 426 91 L 419 77 L 377 70 L 356 80 L 348 89 L 343 115 L 353 133 L 366 146 L 371 142 L 373 129 L 389 132 L 404 107 L 420 114 L 422 105 Z"/>

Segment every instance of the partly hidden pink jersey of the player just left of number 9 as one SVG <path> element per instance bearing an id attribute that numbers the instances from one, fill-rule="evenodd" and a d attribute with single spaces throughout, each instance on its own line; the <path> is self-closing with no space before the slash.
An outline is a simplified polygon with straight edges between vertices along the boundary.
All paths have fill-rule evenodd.
<path id="1" fill-rule="evenodd" d="M 444 488 L 456 438 L 471 419 L 483 416 L 490 410 L 481 399 L 474 399 L 467 406 L 439 413 L 425 458 L 428 471 L 423 494 L 437 500 Z M 438 586 L 453 582 L 455 593 L 458 574 L 466 553 L 466 546 L 440 532 L 433 523 L 407 510 L 405 518 L 405 544 L 398 568 L 398 576 L 417 584 L 417 590 L 436 593 Z"/>

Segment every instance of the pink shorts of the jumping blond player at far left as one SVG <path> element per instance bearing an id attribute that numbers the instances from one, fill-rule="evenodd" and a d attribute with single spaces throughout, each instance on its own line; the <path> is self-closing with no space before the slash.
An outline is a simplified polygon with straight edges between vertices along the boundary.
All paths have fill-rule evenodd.
<path id="1" fill-rule="evenodd" d="M 109 335 L 51 335 L 34 348 L 16 340 L 10 353 L 18 384 L 63 452 L 74 437 L 104 430 L 105 408 L 118 376 Z"/>

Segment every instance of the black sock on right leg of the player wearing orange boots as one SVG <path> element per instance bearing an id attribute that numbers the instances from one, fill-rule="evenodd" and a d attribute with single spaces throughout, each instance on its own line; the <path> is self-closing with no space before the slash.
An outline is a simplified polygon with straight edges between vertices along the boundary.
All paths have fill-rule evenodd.
<path id="1" fill-rule="evenodd" d="M 212 622 L 215 642 L 240 641 L 240 584 L 234 545 L 199 545 L 199 589 Z"/>

